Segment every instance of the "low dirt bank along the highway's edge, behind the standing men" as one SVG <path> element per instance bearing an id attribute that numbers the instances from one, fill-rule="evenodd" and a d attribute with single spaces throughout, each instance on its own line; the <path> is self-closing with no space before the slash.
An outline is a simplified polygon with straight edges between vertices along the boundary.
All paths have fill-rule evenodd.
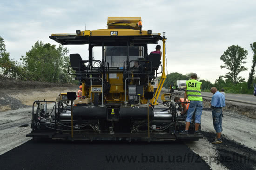
<path id="1" fill-rule="evenodd" d="M 183 98 L 184 94 L 173 92 L 173 97 Z M 203 108 L 209 108 L 210 99 L 203 98 Z M 226 107 L 224 107 L 224 111 L 240 114 L 246 116 L 248 118 L 256 119 L 256 107 L 250 105 L 236 105 L 234 102 L 226 101 Z"/>

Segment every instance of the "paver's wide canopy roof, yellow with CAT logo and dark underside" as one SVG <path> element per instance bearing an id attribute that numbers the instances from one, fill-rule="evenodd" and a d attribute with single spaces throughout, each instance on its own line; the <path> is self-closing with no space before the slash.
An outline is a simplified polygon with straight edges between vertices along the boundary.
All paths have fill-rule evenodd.
<path id="1" fill-rule="evenodd" d="M 130 45 L 157 44 L 162 40 L 160 33 L 134 29 L 100 29 L 93 31 L 81 31 L 80 34 L 52 34 L 50 39 L 62 45 L 90 44 L 93 46 L 126 46 L 129 40 Z"/>

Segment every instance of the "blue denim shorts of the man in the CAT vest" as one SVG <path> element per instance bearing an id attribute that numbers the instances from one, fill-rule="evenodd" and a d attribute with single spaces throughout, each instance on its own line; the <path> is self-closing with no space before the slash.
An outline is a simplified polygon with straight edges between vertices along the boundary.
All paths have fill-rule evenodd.
<path id="1" fill-rule="evenodd" d="M 190 101 L 186 122 L 191 122 L 194 112 L 195 112 L 195 123 L 200 124 L 201 116 L 202 116 L 202 101 L 195 101 L 195 100 Z"/>

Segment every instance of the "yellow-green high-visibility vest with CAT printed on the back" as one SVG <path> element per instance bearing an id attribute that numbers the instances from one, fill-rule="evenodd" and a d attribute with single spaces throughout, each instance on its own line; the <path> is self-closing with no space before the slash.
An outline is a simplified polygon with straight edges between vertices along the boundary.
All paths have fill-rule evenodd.
<path id="1" fill-rule="evenodd" d="M 201 88 L 200 88 L 202 85 L 202 82 L 197 81 L 195 79 L 191 79 L 186 82 L 186 85 L 187 85 L 188 99 L 202 101 L 202 94 L 201 94 Z"/>

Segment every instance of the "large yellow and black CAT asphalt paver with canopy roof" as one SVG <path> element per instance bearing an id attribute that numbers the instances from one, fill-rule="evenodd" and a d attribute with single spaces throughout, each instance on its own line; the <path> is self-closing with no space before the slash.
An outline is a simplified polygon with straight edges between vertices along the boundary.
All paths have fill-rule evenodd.
<path id="1" fill-rule="evenodd" d="M 78 53 L 70 54 L 68 68 L 69 74 L 82 85 L 82 95 L 76 96 L 74 105 L 67 93 L 61 93 L 57 102 L 35 101 L 32 132 L 27 137 L 90 141 L 202 138 L 178 135 L 178 131 L 184 130 L 185 119 L 177 117 L 177 103 L 171 101 L 172 89 L 158 101 L 166 79 L 165 33 L 161 36 L 152 30 L 142 30 L 141 17 L 108 17 L 107 26 L 49 36 L 61 45 L 88 47 L 88 59 L 83 60 Z M 148 44 L 161 41 L 162 56 L 148 54 Z M 94 59 L 95 47 L 100 47 L 101 59 Z M 154 93 L 157 76 L 160 81 Z M 50 111 L 48 103 L 54 103 Z M 193 128 L 192 123 L 191 131 Z"/>

